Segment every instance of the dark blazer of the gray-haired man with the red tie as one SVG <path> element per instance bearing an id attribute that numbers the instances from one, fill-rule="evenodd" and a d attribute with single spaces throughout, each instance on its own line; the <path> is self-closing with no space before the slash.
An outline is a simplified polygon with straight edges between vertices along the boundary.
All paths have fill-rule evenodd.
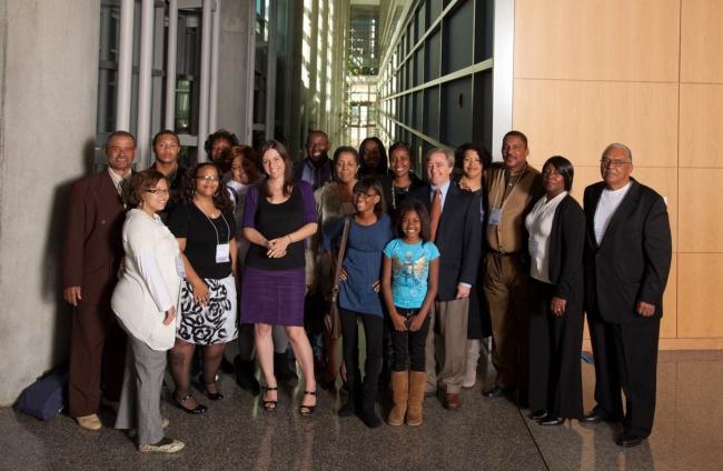
<path id="1" fill-rule="evenodd" d="M 432 187 L 428 183 L 410 190 L 407 198 L 422 201 L 427 210 L 432 207 Z M 462 191 L 449 183 L 437 228 L 439 249 L 438 301 L 452 301 L 457 295 L 457 284 L 475 284 L 482 249 L 482 222 L 479 221 L 479 194 Z"/>

